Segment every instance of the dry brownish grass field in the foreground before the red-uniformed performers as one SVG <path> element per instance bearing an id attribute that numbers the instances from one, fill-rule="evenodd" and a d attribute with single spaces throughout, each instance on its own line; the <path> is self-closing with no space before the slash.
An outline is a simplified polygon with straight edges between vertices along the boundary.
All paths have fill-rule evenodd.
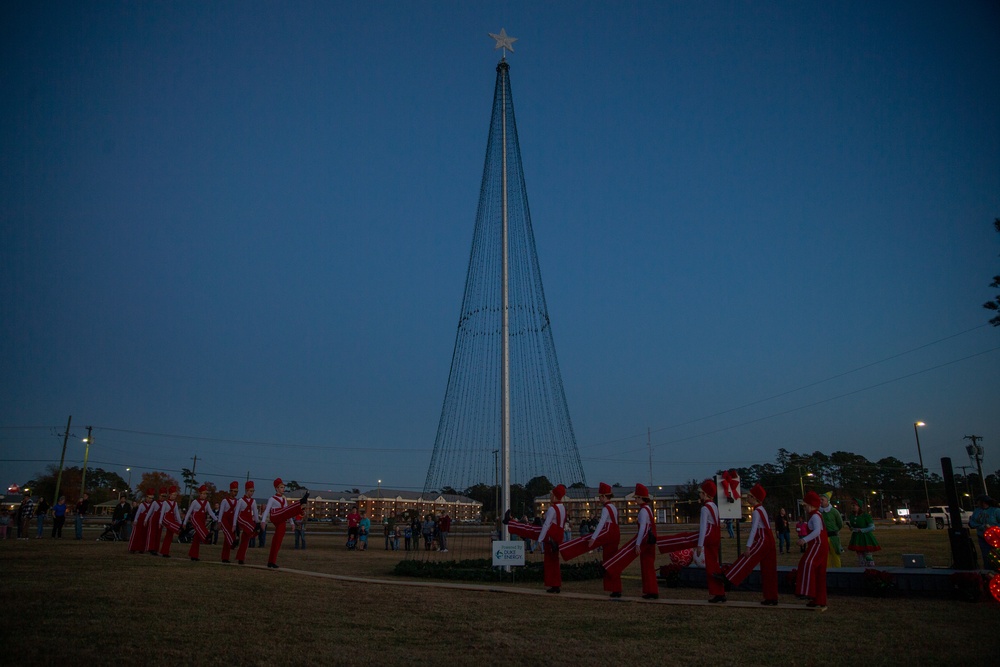
<path id="1" fill-rule="evenodd" d="M 340 535 L 323 533 L 309 536 L 308 550 L 294 551 L 289 536 L 279 559 L 283 569 L 269 571 L 212 562 L 217 546 L 203 547 L 202 562 L 194 563 L 184 558 L 186 545 L 175 545 L 175 557 L 166 560 L 132 556 L 120 543 L 93 537 L 96 532 L 79 542 L 0 542 L 6 664 L 16 658 L 26 665 L 597 665 L 638 659 L 672 665 L 711 656 L 722 665 L 953 665 L 989 664 L 985 656 L 1000 649 L 1000 604 L 992 601 L 833 596 L 829 611 L 819 614 L 802 611 L 791 596 L 782 599 L 788 607 L 776 609 L 709 606 L 705 591 L 680 588 L 661 589 L 661 596 L 694 604 L 658 604 L 635 599 L 639 582 L 629 570 L 625 596 L 635 597 L 611 602 L 599 581 L 564 586 L 567 593 L 594 594 L 576 599 L 290 571 L 398 581 L 390 572 L 402 554 L 384 551 L 381 538 L 359 553 L 345 551 Z M 885 529 L 879 537 L 884 564 L 895 565 L 901 553 L 924 553 L 929 564 L 948 565 L 943 531 Z M 724 542 L 734 556 L 734 540 Z M 731 556 L 724 552 L 724 559 Z M 259 549 L 248 554 L 248 563 L 265 560 Z M 781 563 L 795 561 L 792 554 Z M 510 588 L 535 593 L 541 586 Z M 732 601 L 757 599 L 756 593 L 730 595 Z"/>

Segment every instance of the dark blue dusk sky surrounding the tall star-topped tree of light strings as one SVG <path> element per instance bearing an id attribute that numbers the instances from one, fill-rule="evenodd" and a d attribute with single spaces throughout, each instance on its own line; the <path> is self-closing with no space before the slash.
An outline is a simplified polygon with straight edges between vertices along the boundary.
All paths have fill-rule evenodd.
<path id="1" fill-rule="evenodd" d="M 2 481 L 420 487 L 501 27 L 591 483 L 1000 467 L 996 3 L 14 2 Z"/>

